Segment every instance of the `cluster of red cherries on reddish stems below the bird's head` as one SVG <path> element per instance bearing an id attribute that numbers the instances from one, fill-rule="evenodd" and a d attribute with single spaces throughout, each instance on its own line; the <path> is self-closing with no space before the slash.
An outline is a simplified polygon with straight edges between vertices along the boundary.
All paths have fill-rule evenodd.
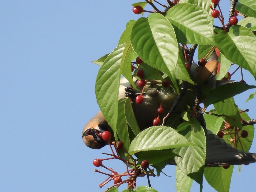
<path id="1" fill-rule="evenodd" d="M 98 172 L 98 173 L 108 176 L 106 180 L 104 180 L 102 183 L 99 184 L 100 187 L 103 187 L 110 181 L 113 181 L 114 185 L 108 187 L 107 191 L 115 186 L 119 187 L 121 184 L 124 184 L 124 183 L 128 184 L 128 189 L 129 188 L 134 189 L 134 188 L 136 188 L 137 177 L 145 176 L 145 175 L 147 175 L 147 176 L 153 175 L 154 176 L 152 170 L 149 169 L 149 161 L 143 160 L 141 162 L 141 166 L 137 166 L 136 160 L 124 149 L 124 143 L 122 141 L 118 141 L 117 144 L 116 144 L 116 142 L 112 142 L 112 145 L 114 146 L 114 149 L 116 152 L 116 153 L 114 153 L 114 150 L 110 144 L 111 133 L 109 131 L 104 131 L 102 133 L 102 139 L 105 140 L 106 142 L 108 142 L 110 149 L 112 151 L 112 154 L 110 154 L 110 153 L 103 153 L 103 154 L 109 155 L 112 157 L 105 158 L 105 159 L 96 158 L 93 161 L 93 164 L 95 167 L 103 167 L 103 168 L 107 169 L 107 171 L 109 171 L 108 173 L 105 173 L 102 171 L 98 171 L 97 169 L 94 169 L 95 172 Z M 127 159 L 121 158 L 121 156 L 118 153 L 118 150 L 124 150 L 128 154 L 128 158 Z M 114 171 L 113 168 L 108 168 L 103 165 L 103 161 L 111 160 L 111 159 L 118 159 L 122 162 L 125 162 L 126 171 L 124 173 L 118 173 L 117 171 Z M 129 166 L 131 166 L 132 168 L 129 168 Z M 147 171 L 147 169 L 149 169 L 149 172 Z M 125 177 L 125 176 L 128 176 L 128 178 L 125 180 L 122 180 L 122 177 Z"/>

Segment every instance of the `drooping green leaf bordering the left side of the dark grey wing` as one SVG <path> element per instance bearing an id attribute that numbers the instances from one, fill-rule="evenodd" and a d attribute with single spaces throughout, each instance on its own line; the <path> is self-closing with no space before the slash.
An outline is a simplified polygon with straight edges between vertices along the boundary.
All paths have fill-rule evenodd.
<path id="1" fill-rule="evenodd" d="M 193 118 L 192 124 L 185 122 L 179 127 L 185 127 L 181 132 L 195 146 L 182 147 L 181 149 L 173 149 L 173 153 L 178 154 L 180 157 L 175 157 L 174 160 L 179 168 L 186 174 L 198 172 L 201 167 L 205 165 L 206 155 L 206 141 L 204 130 L 199 122 Z M 180 129 L 178 127 L 178 129 Z"/>

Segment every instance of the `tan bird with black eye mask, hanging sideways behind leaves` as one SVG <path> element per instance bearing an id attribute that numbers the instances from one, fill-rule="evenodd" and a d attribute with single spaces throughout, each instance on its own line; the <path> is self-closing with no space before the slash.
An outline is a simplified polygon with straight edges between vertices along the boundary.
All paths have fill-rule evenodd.
<path id="1" fill-rule="evenodd" d="M 212 88 L 218 86 L 215 76 L 218 73 L 220 64 L 217 57 L 218 52 L 215 50 L 207 60 L 205 66 L 198 66 L 196 63 L 192 63 L 191 76 L 195 81 L 211 86 Z M 144 130 L 152 126 L 153 119 L 158 116 L 156 109 L 159 107 L 159 103 L 161 103 L 162 108 L 165 109 L 165 114 L 167 114 L 178 97 L 178 94 L 172 91 L 171 88 L 163 89 L 162 87 L 154 87 L 147 89 L 143 96 L 143 103 L 137 104 L 135 102 L 134 95 L 138 94 L 138 91 L 130 88 L 129 86 L 129 81 L 126 78 L 121 78 L 118 99 L 126 98 L 127 96 L 130 97 L 133 112 L 140 130 Z M 193 105 L 194 101 L 195 95 L 193 91 L 187 90 L 181 101 L 178 103 L 175 112 L 179 114 L 186 109 L 187 105 Z M 210 130 L 207 130 L 204 119 L 202 121 L 202 114 L 198 114 L 198 120 L 201 126 L 205 129 L 206 136 L 205 167 L 256 162 L 255 153 L 245 153 L 244 151 L 235 149 L 231 145 L 227 144 L 223 139 L 213 134 Z M 101 149 L 107 144 L 107 142 L 101 138 L 101 134 L 106 130 L 110 131 L 113 135 L 112 129 L 107 124 L 103 113 L 99 111 L 85 124 L 82 131 L 83 142 L 89 148 Z M 175 162 L 170 162 L 170 164 L 175 164 Z"/>

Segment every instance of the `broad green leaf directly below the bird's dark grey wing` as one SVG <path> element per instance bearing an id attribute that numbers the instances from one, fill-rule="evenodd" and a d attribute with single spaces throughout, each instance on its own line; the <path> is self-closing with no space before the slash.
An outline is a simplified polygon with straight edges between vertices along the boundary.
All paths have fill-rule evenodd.
<path id="1" fill-rule="evenodd" d="M 217 191 L 228 192 L 234 166 L 228 169 L 223 167 L 205 167 L 204 177 L 206 181 Z"/>

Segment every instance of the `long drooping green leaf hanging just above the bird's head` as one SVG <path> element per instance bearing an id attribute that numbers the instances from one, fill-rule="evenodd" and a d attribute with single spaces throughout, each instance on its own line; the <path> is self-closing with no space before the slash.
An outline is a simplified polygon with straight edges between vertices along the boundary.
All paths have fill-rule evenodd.
<path id="1" fill-rule="evenodd" d="M 117 140 L 118 92 L 120 82 L 120 64 L 125 44 L 119 45 L 109 54 L 100 67 L 95 83 L 98 105 L 106 121 L 113 129 Z"/>

